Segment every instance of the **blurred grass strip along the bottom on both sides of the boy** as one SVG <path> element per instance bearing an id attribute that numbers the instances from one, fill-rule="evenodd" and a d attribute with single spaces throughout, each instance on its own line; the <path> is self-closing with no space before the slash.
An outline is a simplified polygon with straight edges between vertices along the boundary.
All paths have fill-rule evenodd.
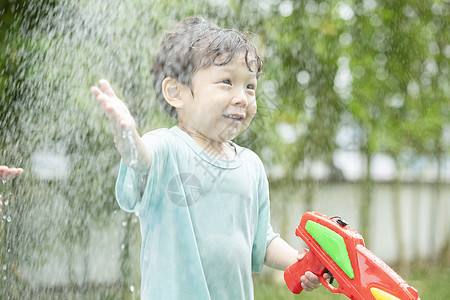
<path id="1" fill-rule="evenodd" d="M 447 300 L 450 299 L 450 264 L 426 264 L 418 263 L 408 272 L 399 272 L 402 277 L 419 291 L 422 300 Z M 407 274 L 407 275 L 405 275 Z M 255 300 L 343 300 L 348 299 L 344 295 L 334 295 L 325 287 L 320 287 L 313 292 L 303 292 L 300 295 L 292 294 L 283 280 L 283 273 L 279 271 L 265 271 L 255 275 Z M 1 291 L 0 285 L 0 291 Z M 73 299 L 73 300 L 138 300 L 139 291 L 130 292 L 129 288 L 123 288 L 116 283 L 110 286 L 86 286 L 43 288 L 36 290 L 15 291 L 13 294 L 21 297 L 11 299 Z M 1 296 L 0 296 L 1 299 Z"/>

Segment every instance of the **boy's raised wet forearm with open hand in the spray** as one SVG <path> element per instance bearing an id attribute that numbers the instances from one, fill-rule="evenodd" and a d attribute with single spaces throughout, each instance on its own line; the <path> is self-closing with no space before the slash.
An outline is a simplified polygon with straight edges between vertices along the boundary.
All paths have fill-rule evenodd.
<path id="1" fill-rule="evenodd" d="M 145 172 L 151 164 L 151 154 L 136 130 L 136 121 L 125 103 L 120 100 L 109 82 L 99 81 L 100 88 L 92 87 L 98 103 L 109 117 L 114 130 L 114 142 L 125 164 L 135 171 Z"/>

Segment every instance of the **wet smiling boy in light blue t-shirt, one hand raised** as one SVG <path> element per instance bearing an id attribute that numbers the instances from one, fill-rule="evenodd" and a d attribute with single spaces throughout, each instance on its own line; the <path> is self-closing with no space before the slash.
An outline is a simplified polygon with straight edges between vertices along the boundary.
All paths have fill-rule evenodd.
<path id="1" fill-rule="evenodd" d="M 152 68 L 178 126 L 141 138 L 109 83 L 92 88 L 122 157 L 118 203 L 140 219 L 142 299 L 253 299 L 252 272 L 305 254 L 272 231 L 259 157 L 231 142 L 256 113 L 262 65 L 244 34 L 189 17 L 165 35 Z M 310 272 L 301 280 L 319 286 Z"/>

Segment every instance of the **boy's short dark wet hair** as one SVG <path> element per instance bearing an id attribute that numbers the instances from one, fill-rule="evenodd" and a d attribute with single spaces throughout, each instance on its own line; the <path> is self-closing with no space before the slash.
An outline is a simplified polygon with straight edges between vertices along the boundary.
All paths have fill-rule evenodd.
<path id="1" fill-rule="evenodd" d="M 153 88 L 164 110 L 177 117 L 177 112 L 162 93 L 162 82 L 171 77 L 192 90 L 192 76 L 211 65 L 222 66 L 237 54 L 245 54 L 248 69 L 258 77 L 263 58 L 249 37 L 234 29 L 223 29 L 201 17 L 188 17 L 163 37 L 156 55 L 151 77 Z"/>

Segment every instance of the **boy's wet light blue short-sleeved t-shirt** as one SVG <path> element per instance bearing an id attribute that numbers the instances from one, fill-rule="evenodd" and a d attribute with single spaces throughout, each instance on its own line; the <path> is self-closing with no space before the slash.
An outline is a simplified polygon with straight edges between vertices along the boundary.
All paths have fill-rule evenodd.
<path id="1" fill-rule="evenodd" d="M 121 162 L 116 184 L 120 207 L 140 219 L 141 298 L 253 299 L 251 273 L 277 236 L 259 157 L 232 143 L 236 157 L 221 160 L 177 126 L 143 140 L 146 181 Z"/>

